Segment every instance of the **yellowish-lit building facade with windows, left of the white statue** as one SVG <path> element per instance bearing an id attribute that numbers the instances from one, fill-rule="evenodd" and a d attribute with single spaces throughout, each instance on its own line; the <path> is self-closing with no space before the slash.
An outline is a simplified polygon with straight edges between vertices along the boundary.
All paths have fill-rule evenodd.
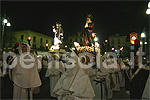
<path id="1" fill-rule="evenodd" d="M 28 43 L 29 37 L 31 38 L 31 49 L 44 50 L 46 49 L 46 43 L 48 43 L 49 48 L 53 44 L 52 37 L 43 35 L 41 33 L 33 32 L 31 30 L 16 31 L 12 32 L 11 34 L 14 34 L 16 40 L 14 43 L 7 43 L 6 47 L 8 48 L 12 48 L 16 42 Z"/>

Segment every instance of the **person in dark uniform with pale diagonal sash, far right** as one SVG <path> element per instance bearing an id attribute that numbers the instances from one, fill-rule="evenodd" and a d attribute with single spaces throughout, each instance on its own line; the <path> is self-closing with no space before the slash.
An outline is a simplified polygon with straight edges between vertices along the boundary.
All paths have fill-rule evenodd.
<path id="1" fill-rule="evenodd" d="M 130 72 L 130 99 L 142 99 L 149 71 L 143 68 L 138 56 L 134 56 L 134 68 Z"/>

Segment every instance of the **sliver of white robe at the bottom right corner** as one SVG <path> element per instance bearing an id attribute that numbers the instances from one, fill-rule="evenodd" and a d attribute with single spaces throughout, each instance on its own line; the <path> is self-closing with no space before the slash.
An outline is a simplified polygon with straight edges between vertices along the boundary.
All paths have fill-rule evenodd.
<path id="1" fill-rule="evenodd" d="M 142 100 L 150 100 L 150 75 L 145 85 L 145 89 L 142 95 Z"/>

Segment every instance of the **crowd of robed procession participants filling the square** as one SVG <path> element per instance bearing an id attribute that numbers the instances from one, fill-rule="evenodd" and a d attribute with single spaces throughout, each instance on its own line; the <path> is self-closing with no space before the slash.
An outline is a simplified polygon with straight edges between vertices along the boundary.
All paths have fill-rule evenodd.
<path id="1" fill-rule="evenodd" d="M 25 43 L 19 46 L 19 54 L 8 61 L 3 61 L 2 56 L 1 85 L 5 84 L 3 78 L 11 79 L 13 99 L 33 99 L 33 94 L 40 93 L 39 88 L 46 77 L 50 83 L 49 96 L 58 100 L 107 100 L 120 88 L 126 89 L 130 99 L 150 99 L 149 66 L 140 64 L 138 56 L 134 56 L 133 68 L 132 62 L 111 58 L 109 54 L 106 57 L 100 55 L 97 61 L 95 57 L 80 56 L 73 50 L 66 59 L 52 54 L 40 60 L 35 52 L 30 54 L 30 46 Z M 43 68 L 46 71 L 41 75 Z"/>

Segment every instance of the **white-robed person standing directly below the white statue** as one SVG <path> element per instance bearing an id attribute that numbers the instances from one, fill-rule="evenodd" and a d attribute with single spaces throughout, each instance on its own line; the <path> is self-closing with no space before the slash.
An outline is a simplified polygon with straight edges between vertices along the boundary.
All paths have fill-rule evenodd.
<path id="1" fill-rule="evenodd" d="M 55 97 L 55 95 L 53 94 L 53 89 L 58 79 L 65 72 L 65 68 L 64 68 L 62 61 L 59 61 L 59 55 L 54 54 L 51 59 L 52 61 L 48 63 L 48 68 L 47 68 L 45 77 L 49 77 L 50 96 Z"/>

